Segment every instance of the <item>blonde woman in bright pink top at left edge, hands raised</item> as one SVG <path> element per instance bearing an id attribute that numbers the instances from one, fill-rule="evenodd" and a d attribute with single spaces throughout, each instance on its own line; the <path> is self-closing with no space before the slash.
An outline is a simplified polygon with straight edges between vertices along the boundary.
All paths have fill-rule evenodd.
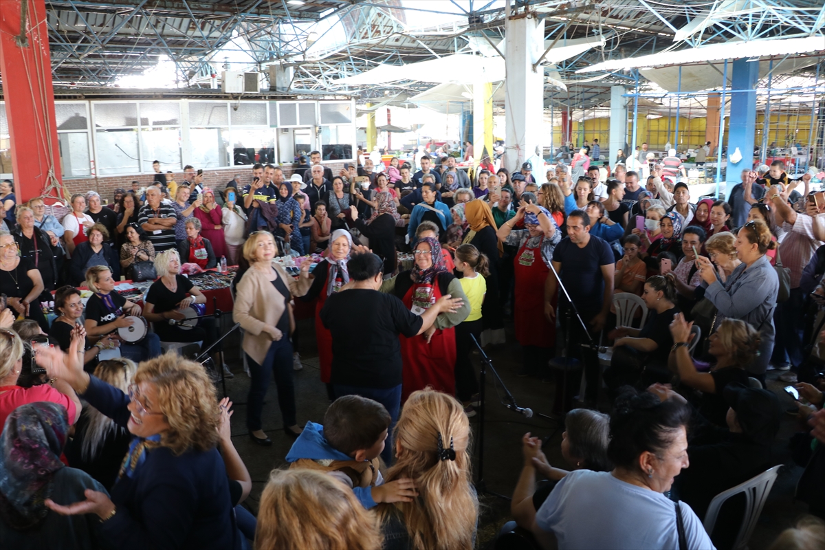
<path id="1" fill-rule="evenodd" d="M 79 332 L 73 333 L 69 353 L 82 350 L 83 338 Z M 24 351 L 26 361 L 24 364 Z M 31 343 L 23 344 L 15 331 L 0 328 L 0 426 L 6 424 L 6 418 L 12 411 L 26 403 L 46 401 L 66 407 L 68 423 L 73 425 L 80 417 L 82 406 L 80 398 L 72 387 L 63 379 L 51 378 L 49 383 L 35 384 L 30 387 L 18 385 L 21 375 L 33 378 L 33 374 L 45 372 L 35 365 L 31 355 Z"/>

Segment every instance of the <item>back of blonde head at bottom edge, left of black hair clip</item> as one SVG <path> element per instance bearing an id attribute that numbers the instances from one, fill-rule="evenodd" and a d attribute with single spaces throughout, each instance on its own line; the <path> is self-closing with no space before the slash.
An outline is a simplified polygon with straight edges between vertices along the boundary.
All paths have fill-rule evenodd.
<path id="1" fill-rule="evenodd" d="M 342 482 L 314 470 L 272 470 L 258 509 L 255 550 L 377 550 L 381 527 Z"/>

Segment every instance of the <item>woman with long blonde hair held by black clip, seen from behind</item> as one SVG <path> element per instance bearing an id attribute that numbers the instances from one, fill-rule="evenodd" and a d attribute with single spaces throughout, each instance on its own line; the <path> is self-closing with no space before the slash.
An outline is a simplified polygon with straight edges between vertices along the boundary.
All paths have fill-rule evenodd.
<path id="1" fill-rule="evenodd" d="M 418 498 L 378 506 L 384 548 L 473 548 L 479 499 L 471 484 L 469 420 L 455 397 L 413 392 L 395 425 L 395 465 L 384 482 L 415 480 Z"/>

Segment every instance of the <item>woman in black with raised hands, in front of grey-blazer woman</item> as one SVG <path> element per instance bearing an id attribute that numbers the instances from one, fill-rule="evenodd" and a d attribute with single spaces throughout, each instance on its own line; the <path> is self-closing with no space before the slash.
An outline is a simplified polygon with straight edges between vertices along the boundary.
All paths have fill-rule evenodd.
<path id="1" fill-rule="evenodd" d="M 724 388 L 730 383 L 747 385 L 747 366 L 757 358 L 759 332 L 749 323 L 738 319 L 725 319 L 719 329 L 708 338 L 708 353 L 716 358 L 710 372 L 700 373 L 693 364 L 687 345 L 691 341 L 692 322 L 686 322 L 681 314 L 671 323 L 673 341 L 676 343 L 676 372 L 681 383 L 699 390 L 699 412 L 709 422 L 724 427 L 728 414 L 728 403 L 724 399 Z"/>

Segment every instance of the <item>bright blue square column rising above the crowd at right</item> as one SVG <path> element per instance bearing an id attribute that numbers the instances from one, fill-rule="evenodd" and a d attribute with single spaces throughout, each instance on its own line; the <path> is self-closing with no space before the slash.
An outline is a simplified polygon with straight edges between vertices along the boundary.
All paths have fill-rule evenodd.
<path id="1" fill-rule="evenodd" d="M 742 170 L 753 168 L 753 140 L 757 130 L 757 81 L 759 80 L 759 63 L 749 63 L 747 59 L 733 62 L 731 87 L 730 118 L 728 119 L 728 171 L 726 181 L 739 181 Z M 739 148 L 742 159 L 733 163 L 730 156 Z"/>

